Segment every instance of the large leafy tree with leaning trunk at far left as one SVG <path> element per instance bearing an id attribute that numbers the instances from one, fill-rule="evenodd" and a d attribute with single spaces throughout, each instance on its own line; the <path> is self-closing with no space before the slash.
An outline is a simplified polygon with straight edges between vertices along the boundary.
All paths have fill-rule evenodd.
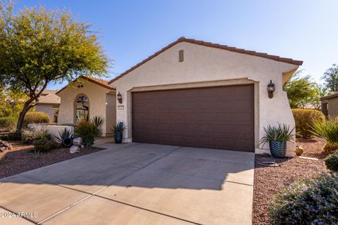
<path id="1" fill-rule="evenodd" d="M 70 12 L 37 6 L 14 14 L 13 8 L 0 1 L 0 80 L 28 97 L 18 117 L 20 132 L 47 84 L 105 75 L 109 60 L 90 25 Z"/>

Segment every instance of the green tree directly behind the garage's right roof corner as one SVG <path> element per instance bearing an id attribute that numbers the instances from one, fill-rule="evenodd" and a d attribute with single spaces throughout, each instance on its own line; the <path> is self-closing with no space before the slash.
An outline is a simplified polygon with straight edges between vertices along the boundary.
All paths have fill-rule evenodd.
<path id="1" fill-rule="evenodd" d="M 294 73 L 292 78 L 284 84 L 291 108 L 306 108 L 318 96 L 318 85 L 312 81 L 311 76 L 301 76 L 302 70 Z"/>

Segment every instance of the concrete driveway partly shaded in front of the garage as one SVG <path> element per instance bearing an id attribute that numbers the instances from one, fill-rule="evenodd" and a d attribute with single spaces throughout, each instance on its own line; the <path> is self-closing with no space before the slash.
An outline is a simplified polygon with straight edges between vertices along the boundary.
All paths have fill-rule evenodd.
<path id="1" fill-rule="evenodd" d="M 3 179 L 0 224 L 251 224 L 253 153 L 101 146 Z"/>

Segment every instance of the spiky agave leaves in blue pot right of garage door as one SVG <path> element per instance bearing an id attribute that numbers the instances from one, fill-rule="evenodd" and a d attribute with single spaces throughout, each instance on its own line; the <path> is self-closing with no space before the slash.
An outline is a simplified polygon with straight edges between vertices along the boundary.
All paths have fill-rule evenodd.
<path id="1" fill-rule="evenodd" d="M 294 137 L 294 134 L 292 134 L 292 131 L 294 131 L 294 128 L 290 130 L 290 126 L 287 124 L 280 124 L 278 123 L 278 127 L 271 127 L 268 125 L 268 127 L 263 128 L 265 131 L 265 135 L 261 138 L 260 144 L 265 144 L 268 141 L 292 141 L 292 138 Z"/>

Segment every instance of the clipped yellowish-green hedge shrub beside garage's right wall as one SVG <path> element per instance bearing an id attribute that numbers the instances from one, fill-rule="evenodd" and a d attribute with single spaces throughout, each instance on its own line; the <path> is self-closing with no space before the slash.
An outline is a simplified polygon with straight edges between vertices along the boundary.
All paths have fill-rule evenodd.
<path id="1" fill-rule="evenodd" d="M 294 122 L 296 122 L 296 134 L 304 139 L 310 138 L 312 134 L 311 122 L 314 120 L 324 121 L 325 115 L 318 110 L 296 108 L 292 110 Z"/>

